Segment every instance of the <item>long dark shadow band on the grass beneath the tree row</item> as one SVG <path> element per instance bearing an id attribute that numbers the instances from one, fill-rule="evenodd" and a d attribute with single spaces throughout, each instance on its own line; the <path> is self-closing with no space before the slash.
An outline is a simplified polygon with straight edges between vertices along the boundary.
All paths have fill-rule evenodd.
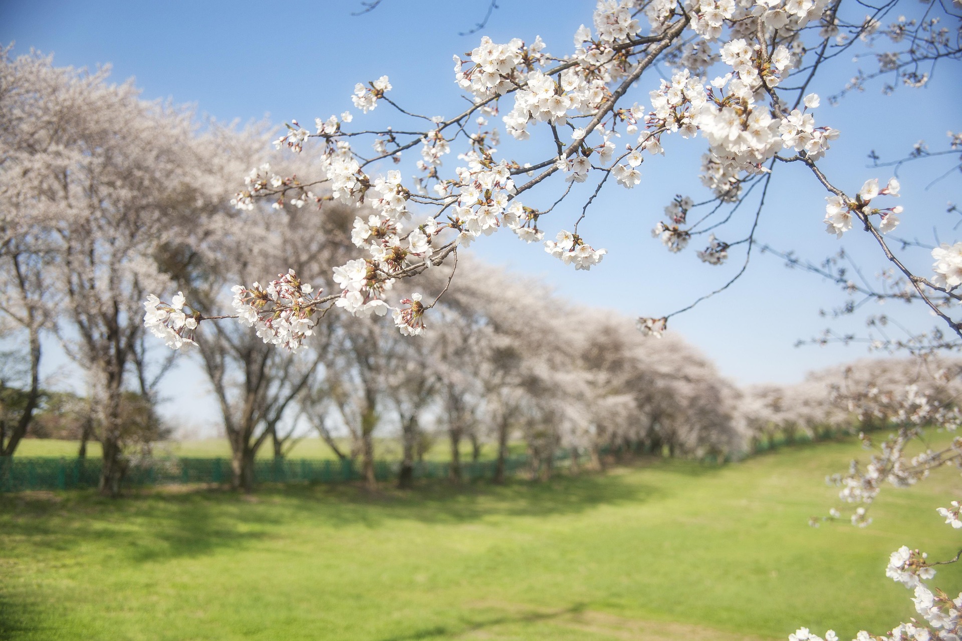
<path id="1" fill-rule="evenodd" d="M 684 476 L 720 469 L 657 459 L 632 466 Z M 671 483 L 646 484 L 643 475 L 629 470 L 622 466 L 603 474 L 514 479 L 503 485 L 422 481 L 406 491 L 384 483 L 376 492 L 353 484 L 266 484 L 252 496 L 210 487 L 155 488 L 119 500 L 100 498 L 90 490 L 21 493 L 0 501 L 0 550 L 15 541 L 20 554 L 29 555 L 31 549 L 69 553 L 96 541 L 111 555 L 150 562 L 244 548 L 290 525 L 383 529 L 398 520 L 460 524 L 547 517 L 671 494 Z"/>

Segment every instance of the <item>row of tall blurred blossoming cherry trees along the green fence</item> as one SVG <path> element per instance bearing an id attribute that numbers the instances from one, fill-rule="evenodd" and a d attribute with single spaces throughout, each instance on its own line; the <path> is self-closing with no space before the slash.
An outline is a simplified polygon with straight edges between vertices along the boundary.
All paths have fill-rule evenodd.
<path id="1" fill-rule="evenodd" d="M 0 147 L 0 312 L 7 335 L 26 337 L 30 354 L 26 401 L 13 429 L 4 420 L 2 456 L 37 424 L 38 407 L 55 405 L 41 388 L 40 365 L 41 348 L 58 342 L 89 389 L 87 403 L 76 399 L 61 413 L 83 424 L 82 440 L 97 432 L 101 489 L 115 495 L 125 467 L 158 433 L 130 420 L 130 394 L 158 401 L 172 364 L 148 328 L 163 329 L 175 346 L 196 346 L 231 446 L 234 484 L 247 490 L 260 449 L 272 444 L 283 456 L 307 429 L 337 456 L 359 459 L 369 483 L 375 434 L 398 436 L 401 484 L 412 481 L 429 433 L 450 442 L 455 478 L 466 441 L 472 456 L 494 447 L 497 479 L 519 438 L 544 473 L 561 447 L 597 464 L 599 450 L 627 442 L 681 456 L 740 448 L 734 388 L 680 338 L 646 341 L 623 318 L 570 307 L 543 284 L 469 257 L 459 286 L 434 270 L 422 278 L 425 298 L 412 296 L 412 305 L 437 304 L 436 332 L 411 337 L 375 317 L 331 313 L 316 323 L 312 315 L 291 335 L 289 347 L 298 349 L 278 350 L 268 329 L 277 319 L 264 319 L 260 308 L 271 297 L 314 299 L 336 286 L 332 270 L 361 236 L 356 210 L 332 204 L 319 216 L 290 201 L 230 207 L 241 167 L 269 160 L 302 174 L 324 160 L 278 158 L 258 128 L 198 130 L 190 111 L 141 101 L 133 86 L 108 85 L 106 76 L 9 52 L 0 65 L 8 125 Z M 366 215 L 376 227 L 374 210 Z M 278 273 L 263 285 L 225 285 Z M 162 306 L 147 293 L 175 285 L 196 309 L 233 301 L 249 315 L 198 326 L 184 296 Z M 405 327 L 418 333 L 417 323 Z"/>

